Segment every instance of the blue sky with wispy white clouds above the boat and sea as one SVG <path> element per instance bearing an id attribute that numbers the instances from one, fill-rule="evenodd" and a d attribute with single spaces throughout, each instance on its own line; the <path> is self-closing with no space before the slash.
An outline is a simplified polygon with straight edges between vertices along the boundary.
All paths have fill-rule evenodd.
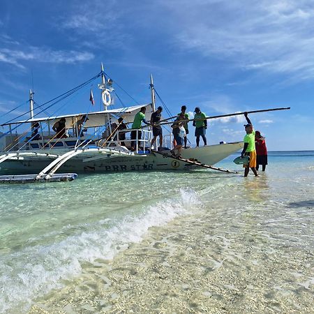
<path id="1" fill-rule="evenodd" d="M 313 0 L 0 0 L 0 123 L 28 110 L 29 89 L 43 104 L 103 62 L 115 107 L 150 103 L 152 73 L 156 105 L 172 114 L 181 105 L 207 116 L 291 107 L 249 117 L 269 151 L 314 150 L 313 18 Z M 98 83 L 58 114 L 100 110 Z M 209 144 L 243 140 L 244 122 L 209 120 Z"/>

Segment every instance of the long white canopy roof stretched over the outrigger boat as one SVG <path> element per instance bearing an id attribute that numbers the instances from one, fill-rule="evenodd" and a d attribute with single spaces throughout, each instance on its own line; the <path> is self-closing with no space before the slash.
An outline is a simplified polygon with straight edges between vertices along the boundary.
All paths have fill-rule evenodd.
<path id="1" fill-rule="evenodd" d="M 112 122 L 117 122 L 119 117 L 123 117 L 125 122 L 133 122 L 135 114 L 140 111 L 141 107 L 146 107 L 146 117 L 147 120 L 150 119 L 152 113 L 152 105 L 151 103 L 146 105 L 136 105 L 131 107 L 124 107 L 118 109 L 110 109 L 110 110 L 103 110 L 98 112 L 85 112 L 85 113 L 78 113 L 78 114 L 63 114 L 61 116 L 55 117 L 43 117 L 43 118 L 34 118 L 34 119 L 27 119 L 22 121 L 12 121 L 8 124 L 1 124 L 1 126 L 8 126 L 10 124 L 34 124 L 36 122 L 44 122 L 47 124 L 54 124 L 55 121 L 66 118 L 66 128 L 70 128 L 73 126 L 73 122 L 75 119 L 81 119 L 82 116 L 87 115 L 89 118 L 84 126 L 87 128 L 96 127 L 96 126 L 103 126 L 108 119 L 110 118 Z"/>

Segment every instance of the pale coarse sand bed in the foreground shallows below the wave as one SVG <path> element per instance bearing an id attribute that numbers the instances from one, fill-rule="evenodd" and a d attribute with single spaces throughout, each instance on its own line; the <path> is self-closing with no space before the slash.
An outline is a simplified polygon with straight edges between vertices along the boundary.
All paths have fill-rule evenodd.
<path id="1" fill-rule="evenodd" d="M 29 313 L 314 313 L 313 251 L 224 221 L 208 210 L 151 228 Z"/>

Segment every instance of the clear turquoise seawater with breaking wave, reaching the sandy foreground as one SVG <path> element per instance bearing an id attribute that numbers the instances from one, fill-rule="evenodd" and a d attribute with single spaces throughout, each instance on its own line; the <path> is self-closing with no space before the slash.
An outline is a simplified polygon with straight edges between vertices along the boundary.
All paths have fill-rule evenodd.
<path id="1" fill-rule="evenodd" d="M 1 185 L 0 313 L 313 313 L 314 151 L 233 158 Z"/>

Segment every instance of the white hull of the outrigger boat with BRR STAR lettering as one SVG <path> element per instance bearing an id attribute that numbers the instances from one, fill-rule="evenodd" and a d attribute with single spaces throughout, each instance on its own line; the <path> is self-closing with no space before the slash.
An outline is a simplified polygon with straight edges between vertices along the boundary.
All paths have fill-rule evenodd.
<path id="1" fill-rule="evenodd" d="M 214 165 L 230 154 L 239 151 L 243 142 L 211 145 L 183 149 L 182 157 L 193 158 L 207 165 Z M 66 150 L 52 149 L 50 154 L 63 154 Z M 167 154 L 169 151 L 162 151 Z M 23 156 L 13 158 L 0 163 L 2 172 L 8 173 L 39 173 L 54 159 L 43 156 Z M 143 154 L 135 156 L 119 156 L 110 154 L 89 153 L 80 154 L 66 161 L 58 172 L 132 172 L 132 171 L 165 171 L 165 170 L 186 170 L 191 165 L 182 160 L 167 158 L 160 154 Z M 195 167 L 195 166 L 192 166 Z"/>

